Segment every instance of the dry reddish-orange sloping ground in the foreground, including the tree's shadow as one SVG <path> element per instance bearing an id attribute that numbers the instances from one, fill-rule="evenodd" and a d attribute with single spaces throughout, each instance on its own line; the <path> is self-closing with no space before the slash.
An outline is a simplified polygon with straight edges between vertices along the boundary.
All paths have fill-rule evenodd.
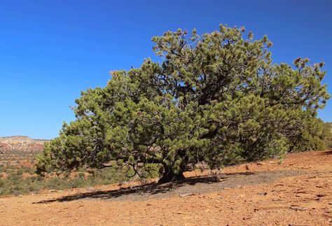
<path id="1" fill-rule="evenodd" d="M 207 174 L 0 197 L 0 225 L 332 225 L 331 150 Z"/>

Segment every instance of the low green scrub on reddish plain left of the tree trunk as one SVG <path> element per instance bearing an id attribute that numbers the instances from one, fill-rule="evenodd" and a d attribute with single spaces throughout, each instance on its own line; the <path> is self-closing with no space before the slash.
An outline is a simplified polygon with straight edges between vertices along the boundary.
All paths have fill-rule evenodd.
<path id="1" fill-rule="evenodd" d="M 81 167 L 76 172 L 62 174 L 36 174 L 34 161 L 36 152 L 11 152 L 0 154 L 0 196 L 36 194 L 45 190 L 66 190 L 69 188 L 92 188 L 96 185 L 109 185 L 112 183 L 129 183 L 137 181 L 133 178 L 132 169 L 117 164 L 107 169 L 87 169 Z M 141 169 L 145 178 L 158 176 L 156 166 L 146 165 Z"/>

